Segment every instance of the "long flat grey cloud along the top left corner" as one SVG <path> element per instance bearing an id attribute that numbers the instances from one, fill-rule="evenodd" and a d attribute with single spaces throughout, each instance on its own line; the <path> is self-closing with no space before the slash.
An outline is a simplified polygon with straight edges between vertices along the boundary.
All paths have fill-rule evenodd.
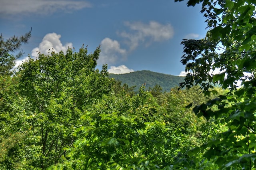
<path id="1" fill-rule="evenodd" d="M 1 0 L 0 16 L 52 14 L 56 11 L 71 12 L 91 7 L 86 1 L 78 0 Z"/>

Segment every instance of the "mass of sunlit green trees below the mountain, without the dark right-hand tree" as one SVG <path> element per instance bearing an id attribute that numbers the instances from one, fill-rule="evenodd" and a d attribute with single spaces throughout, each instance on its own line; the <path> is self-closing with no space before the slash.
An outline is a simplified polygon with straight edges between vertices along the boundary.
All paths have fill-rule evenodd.
<path id="1" fill-rule="evenodd" d="M 198 88 L 142 85 L 135 94 L 106 65 L 95 69 L 99 53 L 38 53 L 12 77 L 1 75 L 2 169 L 196 166 L 186 150 L 199 146 L 205 120 L 185 107 L 196 96 L 206 101 Z"/>

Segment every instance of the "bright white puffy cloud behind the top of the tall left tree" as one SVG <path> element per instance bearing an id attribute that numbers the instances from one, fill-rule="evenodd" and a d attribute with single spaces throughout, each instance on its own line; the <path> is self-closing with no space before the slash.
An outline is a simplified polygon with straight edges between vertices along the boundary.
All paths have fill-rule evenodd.
<path id="1" fill-rule="evenodd" d="M 61 35 L 56 33 L 46 34 L 42 42 L 39 44 L 39 47 L 32 49 L 32 57 L 36 58 L 38 56 L 37 51 L 40 53 L 48 54 L 49 50 L 52 51 L 52 49 L 57 53 L 60 51 L 66 53 L 68 47 L 72 48 L 73 45 L 72 43 L 66 43 L 65 45 L 62 45 L 60 42 L 60 37 Z"/>

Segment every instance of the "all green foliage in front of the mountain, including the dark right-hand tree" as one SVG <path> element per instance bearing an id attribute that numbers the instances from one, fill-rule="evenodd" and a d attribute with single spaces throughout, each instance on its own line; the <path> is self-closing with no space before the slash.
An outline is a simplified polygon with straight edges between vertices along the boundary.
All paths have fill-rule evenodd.
<path id="1" fill-rule="evenodd" d="M 5 67 L 0 169 L 255 169 L 255 2 L 188 6 L 197 3 L 210 30 L 182 42 L 183 89 L 143 81 L 135 93 L 107 65 L 95 69 L 99 47 L 38 53 L 13 75 Z M 0 59 L 13 65 L 9 52 Z"/>

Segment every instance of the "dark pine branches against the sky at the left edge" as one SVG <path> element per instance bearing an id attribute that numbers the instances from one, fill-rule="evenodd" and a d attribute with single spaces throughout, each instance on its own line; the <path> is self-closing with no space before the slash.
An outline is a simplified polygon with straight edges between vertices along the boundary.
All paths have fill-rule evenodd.
<path id="1" fill-rule="evenodd" d="M 0 35 L 0 75 L 12 74 L 10 69 L 15 65 L 15 59 L 21 57 L 23 53 L 20 51 L 14 56 L 10 52 L 19 50 L 22 43 L 27 43 L 31 37 L 31 31 L 32 29 L 24 36 L 13 36 L 7 40 L 4 40 L 2 34 Z"/>

